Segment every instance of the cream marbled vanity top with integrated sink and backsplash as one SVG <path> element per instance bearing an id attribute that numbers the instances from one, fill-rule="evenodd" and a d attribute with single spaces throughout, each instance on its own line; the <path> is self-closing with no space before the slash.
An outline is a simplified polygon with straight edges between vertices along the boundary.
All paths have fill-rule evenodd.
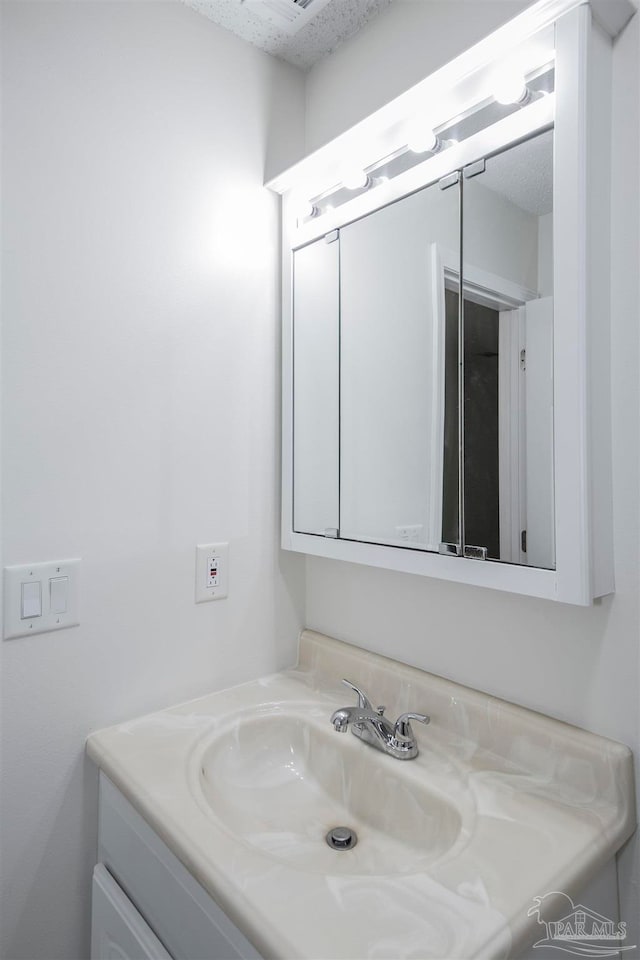
<path id="1" fill-rule="evenodd" d="M 334 731 L 340 677 L 392 717 L 430 714 L 414 760 Z M 295 669 L 100 731 L 89 751 L 274 960 L 520 956 L 543 935 L 531 907 L 580 902 L 635 827 L 627 747 L 312 631 Z M 357 845 L 330 848 L 335 827 Z"/>

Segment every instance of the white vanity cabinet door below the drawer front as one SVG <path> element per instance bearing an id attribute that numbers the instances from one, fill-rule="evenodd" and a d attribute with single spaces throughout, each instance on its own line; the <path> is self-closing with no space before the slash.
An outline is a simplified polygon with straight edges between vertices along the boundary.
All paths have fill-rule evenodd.
<path id="1" fill-rule="evenodd" d="M 91 960 L 171 960 L 109 871 L 93 871 Z"/>

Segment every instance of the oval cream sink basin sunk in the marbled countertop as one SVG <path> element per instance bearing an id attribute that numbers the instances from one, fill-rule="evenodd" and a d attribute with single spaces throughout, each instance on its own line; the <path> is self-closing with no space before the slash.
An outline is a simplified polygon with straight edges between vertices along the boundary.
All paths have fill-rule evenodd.
<path id="1" fill-rule="evenodd" d="M 311 872 L 416 873 L 462 842 L 460 812 L 415 761 L 337 734 L 325 713 L 234 717 L 193 758 L 201 805 L 239 840 Z M 336 826 L 354 829 L 357 846 L 330 848 Z"/>

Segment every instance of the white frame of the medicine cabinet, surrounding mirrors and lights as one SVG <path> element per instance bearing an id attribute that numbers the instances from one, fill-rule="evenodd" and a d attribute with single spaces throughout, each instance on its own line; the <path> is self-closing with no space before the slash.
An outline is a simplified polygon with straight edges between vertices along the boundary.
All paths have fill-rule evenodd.
<path id="1" fill-rule="evenodd" d="M 316 556 L 454 580 L 565 603 L 589 605 L 613 580 L 609 370 L 609 209 L 611 38 L 591 7 L 541 0 L 418 87 L 465 89 L 490 72 L 514 37 L 533 44 L 555 27 L 556 93 L 436 154 L 321 218 L 296 224 L 294 193 L 318 182 L 323 155 L 389 122 L 391 105 L 285 172 L 269 186 L 283 195 L 282 546 Z M 540 32 L 542 31 L 542 33 Z M 547 31 L 545 33 L 545 31 Z M 534 36 L 535 34 L 535 36 Z M 484 73 L 478 73 L 479 70 Z M 474 72 L 475 71 L 475 72 Z M 484 81 L 482 81 L 484 82 Z M 415 91 L 394 102 L 416 103 Z M 448 89 L 448 88 L 447 88 Z M 413 99 L 412 99 L 413 98 Z M 544 570 L 415 549 L 295 533 L 292 524 L 292 250 L 435 182 L 525 136 L 555 127 L 554 139 L 554 463 L 556 569 Z M 305 173 L 307 171 L 307 173 Z"/>

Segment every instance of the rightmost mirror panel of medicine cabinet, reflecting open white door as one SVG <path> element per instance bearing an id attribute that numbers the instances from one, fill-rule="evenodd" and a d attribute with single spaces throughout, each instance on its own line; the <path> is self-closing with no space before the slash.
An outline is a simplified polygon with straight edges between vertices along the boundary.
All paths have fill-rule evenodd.
<path id="1" fill-rule="evenodd" d="M 463 205 L 464 545 L 553 568 L 553 131 L 489 158 Z M 448 330 L 457 312 L 448 293 Z M 445 436 L 457 419 L 456 398 Z M 445 448 L 443 519 L 456 471 Z"/>

